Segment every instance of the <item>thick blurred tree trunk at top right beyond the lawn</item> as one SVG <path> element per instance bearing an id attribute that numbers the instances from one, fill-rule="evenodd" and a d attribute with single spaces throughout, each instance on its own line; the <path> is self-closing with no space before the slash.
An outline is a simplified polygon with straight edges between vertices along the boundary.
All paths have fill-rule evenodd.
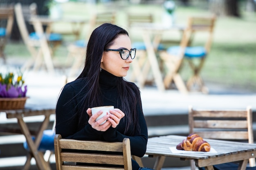
<path id="1" fill-rule="evenodd" d="M 209 0 L 210 11 L 216 15 L 240 17 L 238 0 Z"/>

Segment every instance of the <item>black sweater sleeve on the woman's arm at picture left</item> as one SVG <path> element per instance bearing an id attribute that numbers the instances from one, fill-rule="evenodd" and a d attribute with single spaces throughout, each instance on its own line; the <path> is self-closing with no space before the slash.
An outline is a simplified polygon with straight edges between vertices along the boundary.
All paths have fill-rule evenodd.
<path id="1" fill-rule="evenodd" d="M 79 128 L 79 95 L 71 84 L 64 86 L 56 105 L 56 134 L 61 134 L 66 139 L 100 140 L 102 132 L 99 132 L 86 123 Z M 85 113 L 86 116 L 87 113 Z M 85 119 L 88 121 L 87 119 Z"/>

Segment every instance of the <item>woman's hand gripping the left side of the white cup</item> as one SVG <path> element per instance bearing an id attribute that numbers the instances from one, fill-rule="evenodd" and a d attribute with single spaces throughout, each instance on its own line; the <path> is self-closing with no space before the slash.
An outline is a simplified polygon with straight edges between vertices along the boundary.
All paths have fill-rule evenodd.
<path id="1" fill-rule="evenodd" d="M 88 123 L 92 126 L 92 128 L 98 131 L 106 131 L 108 130 L 108 128 L 110 128 L 110 126 L 112 126 L 112 123 L 110 121 L 106 121 L 104 124 L 101 125 L 103 121 L 110 119 L 110 113 L 96 121 L 97 117 L 99 117 L 103 113 L 102 111 L 99 111 L 96 114 L 92 115 L 92 109 L 88 108 L 86 112 L 90 117 Z"/>

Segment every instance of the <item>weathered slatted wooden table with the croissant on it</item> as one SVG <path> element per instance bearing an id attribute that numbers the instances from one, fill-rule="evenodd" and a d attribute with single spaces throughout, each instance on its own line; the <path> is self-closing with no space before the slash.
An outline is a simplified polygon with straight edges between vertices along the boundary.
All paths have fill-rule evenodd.
<path id="1" fill-rule="evenodd" d="M 220 163 L 240 161 L 238 170 L 245 170 L 248 159 L 256 157 L 256 144 L 216 139 L 204 140 L 218 153 L 172 153 L 169 147 L 176 147 L 183 139 L 186 137 L 177 135 L 149 138 L 146 154 L 157 157 L 153 169 L 160 170 L 165 157 L 178 157 L 181 160 L 194 160 L 196 166 L 205 167 L 207 170 L 213 170 L 213 165 Z"/>

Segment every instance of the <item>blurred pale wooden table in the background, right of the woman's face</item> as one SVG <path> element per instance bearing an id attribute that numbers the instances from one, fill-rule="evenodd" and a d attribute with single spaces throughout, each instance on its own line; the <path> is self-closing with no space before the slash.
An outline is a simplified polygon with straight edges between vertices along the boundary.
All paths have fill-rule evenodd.
<path id="1" fill-rule="evenodd" d="M 155 83 L 159 91 L 165 91 L 163 76 L 157 61 L 157 48 L 162 40 L 162 34 L 165 31 L 183 31 L 183 26 L 166 27 L 161 24 L 143 23 L 133 27 L 140 27 L 143 29 L 143 40 L 146 46 L 147 60 L 146 65 L 150 68 L 155 79 Z M 139 68 L 140 69 L 140 68 Z M 138 70 L 138 69 L 137 69 Z M 143 87 L 146 82 L 147 73 L 138 73 L 139 84 Z"/>

